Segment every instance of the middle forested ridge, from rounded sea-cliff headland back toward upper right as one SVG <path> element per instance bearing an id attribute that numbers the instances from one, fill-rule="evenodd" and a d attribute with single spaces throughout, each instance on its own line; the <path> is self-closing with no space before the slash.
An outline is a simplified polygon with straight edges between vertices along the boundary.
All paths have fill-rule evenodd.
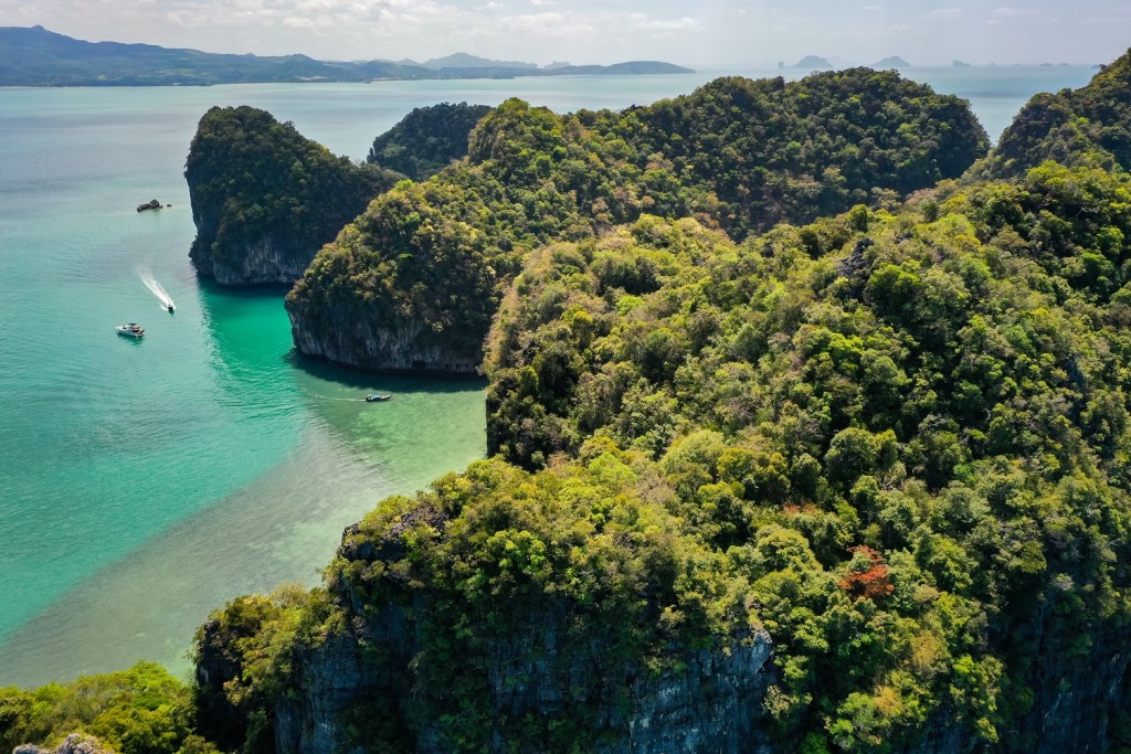
<path id="1" fill-rule="evenodd" d="M 473 371 L 501 286 L 544 243 L 646 213 L 743 237 L 896 201 L 986 148 L 965 103 L 892 71 L 725 78 L 621 113 L 556 115 L 511 99 L 478 123 L 464 163 L 399 184 L 348 225 L 287 309 L 310 355 L 438 369 L 429 355 L 442 352 Z"/>

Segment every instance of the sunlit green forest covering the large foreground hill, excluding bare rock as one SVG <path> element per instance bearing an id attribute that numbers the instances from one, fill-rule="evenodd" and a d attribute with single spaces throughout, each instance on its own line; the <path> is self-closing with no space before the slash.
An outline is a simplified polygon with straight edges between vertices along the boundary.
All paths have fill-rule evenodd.
<path id="1" fill-rule="evenodd" d="M 673 647 L 758 630 L 787 751 L 1031 751 L 1057 683 L 1125 665 L 1129 189 L 1048 164 L 741 244 L 645 216 L 528 255 L 491 337 L 499 457 L 347 536 L 299 645 L 407 615 L 368 751 L 594 751 Z M 547 616 L 578 632 L 547 661 L 599 638 L 607 670 L 501 716 L 480 669 Z M 295 649 L 252 647 L 271 709 Z"/>

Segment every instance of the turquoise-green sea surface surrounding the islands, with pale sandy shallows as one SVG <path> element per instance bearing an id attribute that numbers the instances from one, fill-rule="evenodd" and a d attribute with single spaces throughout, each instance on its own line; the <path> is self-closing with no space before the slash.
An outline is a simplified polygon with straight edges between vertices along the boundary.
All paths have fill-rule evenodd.
<path id="1" fill-rule="evenodd" d="M 724 73 L 804 71 L 0 89 L 0 686 L 138 659 L 187 675 L 211 609 L 317 583 L 345 526 L 485 452 L 482 381 L 312 364 L 283 289 L 197 278 L 182 173 L 209 107 L 266 109 L 362 159 L 416 106 L 621 109 Z M 905 71 L 970 99 L 992 138 L 1033 94 L 1093 73 Z M 135 210 L 154 198 L 172 206 Z M 146 337 L 118 336 L 124 322 Z M 394 399 L 361 400 L 374 391 Z"/>

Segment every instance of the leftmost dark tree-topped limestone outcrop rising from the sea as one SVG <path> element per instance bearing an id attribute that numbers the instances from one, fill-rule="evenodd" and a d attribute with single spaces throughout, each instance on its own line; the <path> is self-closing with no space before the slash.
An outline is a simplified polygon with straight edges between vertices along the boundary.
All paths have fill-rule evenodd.
<path id="1" fill-rule="evenodd" d="M 213 107 L 185 164 L 197 271 L 222 285 L 291 284 L 391 184 L 253 107 Z"/>

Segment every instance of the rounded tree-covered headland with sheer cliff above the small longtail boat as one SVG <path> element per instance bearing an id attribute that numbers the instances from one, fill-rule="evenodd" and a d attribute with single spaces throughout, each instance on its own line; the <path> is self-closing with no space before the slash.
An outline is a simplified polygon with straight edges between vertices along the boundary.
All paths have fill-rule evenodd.
<path id="1" fill-rule="evenodd" d="M 287 294 L 299 350 L 365 370 L 478 372 L 513 265 L 473 215 L 490 213 L 434 180 L 374 200 Z"/>

